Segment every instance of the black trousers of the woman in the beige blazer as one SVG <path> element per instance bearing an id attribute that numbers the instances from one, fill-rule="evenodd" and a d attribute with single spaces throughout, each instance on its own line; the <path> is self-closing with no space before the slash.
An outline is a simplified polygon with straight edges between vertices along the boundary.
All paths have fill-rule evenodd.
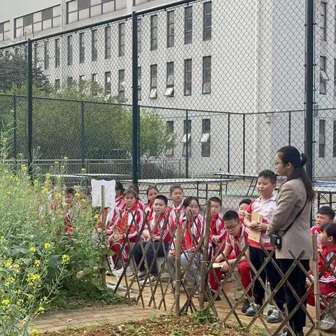
<path id="1" fill-rule="evenodd" d="M 279 259 L 280 268 L 283 274 L 286 274 L 290 266 L 293 264 L 293 259 Z M 309 260 L 301 260 L 301 264 L 307 271 L 309 270 Z M 300 267 L 297 265 L 293 271 L 288 276 L 288 282 L 293 287 L 297 296 L 300 298 L 306 293 L 306 275 Z M 294 297 L 293 292 L 286 286 L 285 284 L 285 294 L 286 294 L 286 302 L 287 302 L 287 309 L 288 314 L 294 310 L 295 306 L 297 305 L 297 300 Z M 307 307 L 307 300 L 302 302 L 304 307 Z M 290 327 L 293 328 L 295 332 L 300 332 L 303 330 L 304 325 L 306 325 L 306 313 L 302 308 L 298 309 L 292 318 L 289 320 Z"/>

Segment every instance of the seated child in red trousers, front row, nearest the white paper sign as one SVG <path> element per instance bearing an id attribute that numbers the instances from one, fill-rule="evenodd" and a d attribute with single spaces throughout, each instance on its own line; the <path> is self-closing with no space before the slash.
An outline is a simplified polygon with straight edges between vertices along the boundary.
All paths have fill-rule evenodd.
<path id="1" fill-rule="evenodd" d="M 116 255 L 120 255 L 120 248 L 125 243 L 122 257 L 123 262 L 127 263 L 130 258 L 130 248 L 137 241 L 138 232 L 141 230 L 142 225 L 144 225 L 144 212 L 139 209 L 135 190 L 125 190 L 123 200 L 125 209 L 120 211 L 118 217 L 113 214 L 111 221 L 107 225 L 108 230 L 106 230 L 106 235 L 110 242 L 110 248 Z M 131 271 L 128 269 L 127 275 L 130 274 Z"/>

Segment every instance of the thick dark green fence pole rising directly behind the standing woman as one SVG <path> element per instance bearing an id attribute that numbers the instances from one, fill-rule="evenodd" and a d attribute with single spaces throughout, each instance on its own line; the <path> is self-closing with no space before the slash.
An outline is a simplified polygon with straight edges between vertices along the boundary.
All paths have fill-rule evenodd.
<path id="1" fill-rule="evenodd" d="M 306 172 L 314 178 L 313 129 L 314 129 L 314 0 L 306 1 L 306 132 L 304 151 L 309 160 Z"/>

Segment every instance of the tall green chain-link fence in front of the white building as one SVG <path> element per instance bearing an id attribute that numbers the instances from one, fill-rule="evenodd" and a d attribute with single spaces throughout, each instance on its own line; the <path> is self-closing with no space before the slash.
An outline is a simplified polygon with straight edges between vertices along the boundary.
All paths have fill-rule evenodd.
<path id="1" fill-rule="evenodd" d="M 332 204 L 335 10 L 315 2 L 310 87 L 304 1 L 182 1 L 1 48 L 7 158 L 31 153 L 48 171 L 65 156 L 69 174 L 111 169 L 134 181 L 236 177 L 240 196 L 260 170 L 274 169 L 278 148 L 314 146 L 314 178 Z"/>

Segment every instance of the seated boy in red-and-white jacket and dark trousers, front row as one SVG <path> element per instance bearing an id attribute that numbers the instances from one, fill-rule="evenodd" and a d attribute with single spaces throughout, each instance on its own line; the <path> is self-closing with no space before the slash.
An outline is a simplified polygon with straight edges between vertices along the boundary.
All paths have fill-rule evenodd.
<path id="1" fill-rule="evenodd" d="M 153 203 L 153 216 L 146 229 L 142 232 L 142 238 L 144 241 L 139 241 L 134 246 L 134 262 L 138 266 L 141 262 L 141 258 L 145 251 L 146 246 L 146 263 L 148 267 L 151 267 L 154 260 L 155 251 L 158 251 L 156 257 L 164 257 L 168 253 L 169 243 L 171 241 L 172 232 L 174 232 L 174 223 L 168 212 L 168 200 L 163 195 L 157 195 Z M 151 276 L 146 280 L 145 286 L 149 286 L 150 283 L 155 283 L 158 280 L 158 267 L 156 262 L 153 262 L 153 267 L 150 270 Z M 138 279 L 141 283 L 144 283 L 144 277 L 146 277 L 147 271 L 145 262 L 141 262 L 139 267 Z"/>

